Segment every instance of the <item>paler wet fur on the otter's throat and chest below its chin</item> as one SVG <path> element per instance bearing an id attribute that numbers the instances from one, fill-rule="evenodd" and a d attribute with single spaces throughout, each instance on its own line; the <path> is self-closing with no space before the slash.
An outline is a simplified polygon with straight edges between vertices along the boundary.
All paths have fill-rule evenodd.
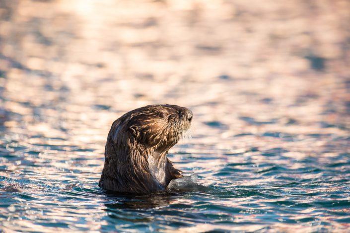
<path id="1" fill-rule="evenodd" d="M 159 184 L 166 187 L 166 157 L 167 151 L 163 153 L 155 152 L 148 155 L 148 167 L 151 175 L 158 181 Z"/>

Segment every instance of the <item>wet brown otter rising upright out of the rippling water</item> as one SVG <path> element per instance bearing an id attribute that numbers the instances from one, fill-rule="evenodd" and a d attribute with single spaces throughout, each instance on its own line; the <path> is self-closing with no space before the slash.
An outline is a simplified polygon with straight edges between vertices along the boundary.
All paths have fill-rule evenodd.
<path id="1" fill-rule="evenodd" d="M 98 186 L 123 193 L 164 190 L 181 171 L 167 158 L 169 149 L 190 128 L 193 114 L 177 105 L 148 105 L 113 122 Z"/>

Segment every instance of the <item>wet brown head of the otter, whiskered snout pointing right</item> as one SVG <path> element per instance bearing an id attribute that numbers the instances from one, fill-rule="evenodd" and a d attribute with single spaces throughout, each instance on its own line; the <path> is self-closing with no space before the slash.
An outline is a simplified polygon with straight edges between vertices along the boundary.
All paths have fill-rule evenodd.
<path id="1" fill-rule="evenodd" d="M 177 105 L 148 105 L 132 111 L 127 130 L 134 144 L 165 152 L 190 128 L 192 111 Z"/>

